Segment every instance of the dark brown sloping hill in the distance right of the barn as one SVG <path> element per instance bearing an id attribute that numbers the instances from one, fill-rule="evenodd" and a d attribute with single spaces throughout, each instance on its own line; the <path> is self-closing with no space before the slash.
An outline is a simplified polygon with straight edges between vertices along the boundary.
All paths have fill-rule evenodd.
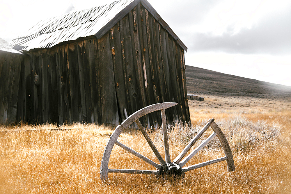
<path id="1" fill-rule="evenodd" d="M 187 91 L 192 94 L 291 98 L 291 87 L 199 67 L 186 66 Z"/>

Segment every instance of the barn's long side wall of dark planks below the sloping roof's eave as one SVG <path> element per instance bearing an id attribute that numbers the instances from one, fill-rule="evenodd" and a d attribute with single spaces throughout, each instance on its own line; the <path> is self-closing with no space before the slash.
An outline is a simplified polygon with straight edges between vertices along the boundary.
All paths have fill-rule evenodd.
<path id="1" fill-rule="evenodd" d="M 18 120 L 119 123 L 108 34 L 27 55 Z"/>

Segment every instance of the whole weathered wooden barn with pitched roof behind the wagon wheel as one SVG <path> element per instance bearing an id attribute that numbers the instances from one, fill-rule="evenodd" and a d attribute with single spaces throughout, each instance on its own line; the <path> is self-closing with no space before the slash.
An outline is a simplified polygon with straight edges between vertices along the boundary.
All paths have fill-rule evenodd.
<path id="1" fill-rule="evenodd" d="M 187 47 L 146 0 L 120 0 L 39 22 L 14 39 L 23 60 L 17 119 L 117 125 L 135 111 L 189 122 Z M 161 124 L 159 113 L 143 118 Z"/>

